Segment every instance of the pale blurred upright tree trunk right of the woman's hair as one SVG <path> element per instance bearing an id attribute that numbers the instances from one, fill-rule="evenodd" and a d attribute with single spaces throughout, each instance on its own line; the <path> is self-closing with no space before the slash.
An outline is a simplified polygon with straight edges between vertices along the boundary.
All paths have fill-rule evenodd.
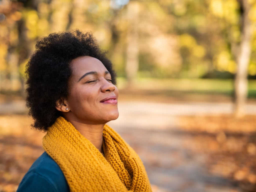
<path id="1" fill-rule="evenodd" d="M 126 48 L 126 78 L 128 86 L 134 83 L 137 76 L 139 66 L 139 49 L 138 49 L 138 3 L 135 1 L 130 2 L 127 5 L 127 18 L 129 27 L 127 30 L 127 48 Z"/>

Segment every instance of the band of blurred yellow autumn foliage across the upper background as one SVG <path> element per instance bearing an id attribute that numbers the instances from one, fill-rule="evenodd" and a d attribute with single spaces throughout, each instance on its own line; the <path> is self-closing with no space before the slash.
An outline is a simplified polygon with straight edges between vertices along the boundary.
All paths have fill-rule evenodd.
<path id="1" fill-rule="evenodd" d="M 255 77 L 255 25 L 251 25 L 249 40 L 248 35 L 243 35 L 242 28 L 246 25 L 242 23 L 246 23 L 243 15 L 251 22 L 256 21 L 256 5 L 255 0 L 248 0 L 250 10 L 244 14 L 246 8 L 242 2 L 1 1 L 1 91 L 22 89 L 24 66 L 39 37 L 76 28 L 92 31 L 100 46 L 108 50 L 118 75 L 130 82 L 136 76 L 216 78 L 216 74 L 222 74 L 228 78 L 236 71 L 237 77 L 241 71 Z M 18 8 L 14 8 L 17 5 Z M 251 43 L 251 59 L 249 67 L 240 70 L 237 67 L 241 65 L 236 63 L 245 61 L 242 58 L 246 57 L 243 48 L 246 43 L 243 42 Z"/>

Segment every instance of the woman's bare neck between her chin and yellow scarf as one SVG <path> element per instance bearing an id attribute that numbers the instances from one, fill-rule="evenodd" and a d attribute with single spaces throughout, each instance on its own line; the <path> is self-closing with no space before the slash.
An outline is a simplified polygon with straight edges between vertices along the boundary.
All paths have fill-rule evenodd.
<path id="1" fill-rule="evenodd" d="M 68 120 L 77 131 L 87 138 L 101 153 L 103 153 L 103 127 L 105 124 L 91 125 Z"/>

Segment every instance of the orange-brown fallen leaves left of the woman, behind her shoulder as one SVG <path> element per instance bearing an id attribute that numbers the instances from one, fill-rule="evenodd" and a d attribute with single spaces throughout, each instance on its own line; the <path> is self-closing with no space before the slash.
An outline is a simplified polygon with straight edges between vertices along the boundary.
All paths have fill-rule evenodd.
<path id="1" fill-rule="evenodd" d="M 31 130 L 26 115 L 0 116 L 0 191 L 16 191 L 19 182 L 43 153 L 44 133 Z"/>

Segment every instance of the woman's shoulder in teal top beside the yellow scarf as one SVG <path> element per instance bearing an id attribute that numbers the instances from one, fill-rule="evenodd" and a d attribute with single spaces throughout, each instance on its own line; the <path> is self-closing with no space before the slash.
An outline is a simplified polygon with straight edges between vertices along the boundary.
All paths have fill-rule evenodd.
<path id="1" fill-rule="evenodd" d="M 63 191 L 69 186 L 58 164 L 44 152 L 30 167 L 19 184 L 22 191 Z"/>

